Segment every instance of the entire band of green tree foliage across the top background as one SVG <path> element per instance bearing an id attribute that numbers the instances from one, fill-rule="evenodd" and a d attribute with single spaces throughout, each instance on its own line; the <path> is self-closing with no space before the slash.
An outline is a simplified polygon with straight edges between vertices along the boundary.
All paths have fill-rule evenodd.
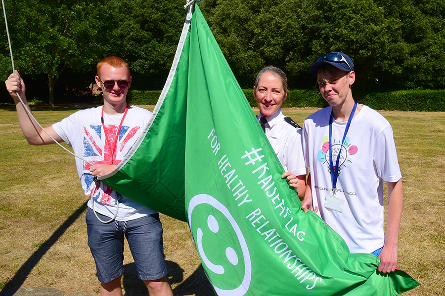
<path id="1" fill-rule="evenodd" d="M 70 77 L 88 73 L 91 80 L 101 58 L 117 55 L 129 63 L 134 88 L 160 89 L 175 55 L 184 2 L 5 0 L 16 68 L 35 79 L 45 75 L 51 93 L 65 69 Z M 267 65 L 283 69 L 291 88 L 314 88 L 312 62 L 342 51 L 355 63 L 356 89 L 444 89 L 443 0 L 202 0 L 199 5 L 244 88 L 252 87 Z M 4 79 L 11 72 L 4 30 L 0 37 Z"/>

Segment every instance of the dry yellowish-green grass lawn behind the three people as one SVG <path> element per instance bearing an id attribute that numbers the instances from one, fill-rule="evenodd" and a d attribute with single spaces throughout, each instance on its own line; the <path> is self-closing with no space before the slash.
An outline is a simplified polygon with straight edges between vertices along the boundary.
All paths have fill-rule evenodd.
<path id="1" fill-rule="evenodd" d="M 33 107 L 48 126 L 85 106 Z M 146 107 L 152 110 L 153 107 Z M 303 125 L 316 109 L 285 109 Z M 258 112 L 258 110 L 254 110 Z M 421 283 L 406 296 L 445 295 L 445 113 L 381 111 L 392 124 L 405 202 L 398 267 Z M 12 104 L 0 104 L 0 290 L 45 287 L 98 295 L 87 245 L 87 197 L 73 156 L 56 145 L 26 143 Z M 386 194 L 386 193 L 385 193 Z M 214 295 L 185 222 L 161 215 L 169 282 L 174 295 Z M 134 277 L 128 246 L 126 295 L 147 295 Z M 0 291 L 1 294 L 2 291 Z"/>

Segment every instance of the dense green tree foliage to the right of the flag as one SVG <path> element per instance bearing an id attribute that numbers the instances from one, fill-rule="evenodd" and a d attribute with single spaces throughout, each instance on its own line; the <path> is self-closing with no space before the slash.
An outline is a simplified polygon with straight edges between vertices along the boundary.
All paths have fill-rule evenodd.
<path id="1" fill-rule="evenodd" d="M 309 67 L 330 51 L 352 58 L 362 88 L 444 87 L 440 0 L 208 0 L 201 8 L 243 87 L 269 64 L 292 87 L 312 87 Z"/>

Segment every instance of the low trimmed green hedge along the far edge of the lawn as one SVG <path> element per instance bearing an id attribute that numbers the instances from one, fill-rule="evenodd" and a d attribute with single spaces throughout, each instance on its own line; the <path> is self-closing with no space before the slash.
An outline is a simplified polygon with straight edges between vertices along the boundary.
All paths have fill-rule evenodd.
<path id="1" fill-rule="evenodd" d="M 250 106 L 256 107 L 252 89 L 243 89 Z M 130 102 L 134 105 L 156 105 L 160 90 L 131 90 Z M 386 93 L 353 93 L 360 104 L 376 110 L 399 111 L 445 111 L 445 90 L 403 90 Z M 291 90 L 283 107 L 317 107 L 327 106 L 316 90 Z"/>

